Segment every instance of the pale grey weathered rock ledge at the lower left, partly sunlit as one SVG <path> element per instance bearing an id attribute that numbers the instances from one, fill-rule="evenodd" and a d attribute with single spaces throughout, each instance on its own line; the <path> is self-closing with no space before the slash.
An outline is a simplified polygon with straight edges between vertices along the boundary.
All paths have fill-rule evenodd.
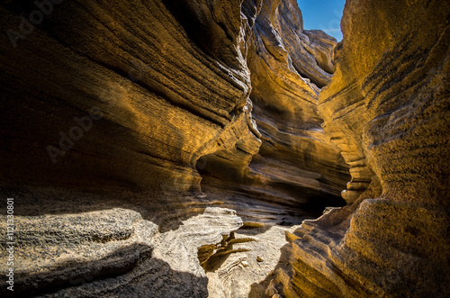
<path id="1" fill-rule="evenodd" d="M 223 208 L 206 208 L 165 233 L 126 209 L 14 221 L 14 294 L 43 297 L 207 297 L 195 252 L 242 225 L 236 212 Z M 4 242 L 0 248 L 5 259 Z M 0 270 L 8 270 L 5 262 Z M 0 291 L 8 293 L 4 284 Z"/>

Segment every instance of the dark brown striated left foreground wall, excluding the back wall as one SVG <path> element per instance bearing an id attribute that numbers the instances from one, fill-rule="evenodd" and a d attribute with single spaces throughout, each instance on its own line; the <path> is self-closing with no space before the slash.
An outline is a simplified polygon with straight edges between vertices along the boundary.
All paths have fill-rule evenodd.
<path id="1" fill-rule="evenodd" d="M 197 158 L 248 131 L 239 1 L 67 1 L 39 25 L 26 21 L 36 5 L 0 9 L 11 35 L 0 37 L 0 175 L 21 212 L 67 203 L 37 203 L 27 185 L 70 202 L 76 192 L 110 194 L 91 208 L 139 196 L 157 221 L 198 212 L 199 200 L 184 197 L 200 190 Z M 229 133 L 235 126 L 243 131 Z"/>

